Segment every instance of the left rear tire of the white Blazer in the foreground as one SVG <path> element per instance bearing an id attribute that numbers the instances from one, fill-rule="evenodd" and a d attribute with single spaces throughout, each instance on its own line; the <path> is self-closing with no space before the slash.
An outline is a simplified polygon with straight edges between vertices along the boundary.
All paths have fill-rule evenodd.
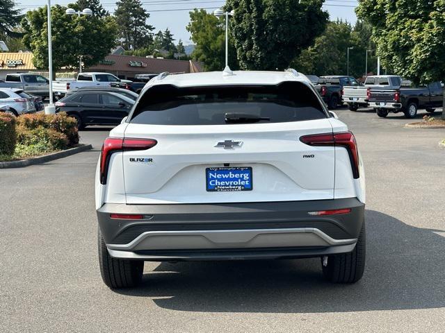
<path id="1" fill-rule="evenodd" d="M 140 260 L 115 259 L 109 255 L 104 238 L 97 231 L 99 267 L 102 280 L 110 288 L 136 287 L 142 280 L 144 262 Z"/>

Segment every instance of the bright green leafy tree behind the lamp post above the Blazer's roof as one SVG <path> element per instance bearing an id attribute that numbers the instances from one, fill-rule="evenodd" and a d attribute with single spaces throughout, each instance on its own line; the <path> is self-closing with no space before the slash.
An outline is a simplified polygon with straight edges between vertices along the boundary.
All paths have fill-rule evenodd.
<path id="1" fill-rule="evenodd" d="M 225 21 L 224 18 L 209 14 L 205 10 L 190 12 L 187 31 L 196 44 L 192 53 L 193 60 L 204 63 L 206 71 L 220 71 L 225 66 Z M 229 67 L 238 69 L 238 60 L 233 38 L 229 35 Z"/>

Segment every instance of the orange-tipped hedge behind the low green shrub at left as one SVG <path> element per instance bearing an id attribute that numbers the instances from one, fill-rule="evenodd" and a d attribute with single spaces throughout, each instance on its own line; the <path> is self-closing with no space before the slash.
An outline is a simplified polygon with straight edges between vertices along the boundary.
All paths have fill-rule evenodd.
<path id="1" fill-rule="evenodd" d="M 17 119 L 19 127 L 29 130 L 47 128 L 56 130 L 65 135 L 67 145 L 72 147 L 79 144 L 79 132 L 77 131 L 76 119 L 68 117 L 65 112 L 58 114 L 24 114 Z"/>

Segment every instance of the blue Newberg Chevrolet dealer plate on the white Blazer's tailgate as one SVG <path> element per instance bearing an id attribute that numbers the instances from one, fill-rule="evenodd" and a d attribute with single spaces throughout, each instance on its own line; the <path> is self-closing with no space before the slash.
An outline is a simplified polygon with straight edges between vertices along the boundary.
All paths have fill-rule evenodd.
<path id="1" fill-rule="evenodd" d="M 252 167 L 220 167 L 206 169 L 209 192 L 252 191 Z"/>

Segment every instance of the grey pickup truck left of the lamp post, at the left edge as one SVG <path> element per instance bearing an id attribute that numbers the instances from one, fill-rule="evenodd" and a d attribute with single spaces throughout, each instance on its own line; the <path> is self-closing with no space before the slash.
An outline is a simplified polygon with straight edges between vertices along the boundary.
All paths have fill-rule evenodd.
<path id="1" fill-rule="evenodd" d="M 13 88 L 24 90 L 28 94 L 49 97 L 49 80 L 41 75 L 33 73 L 7 74 L 4 82 L 0 82 L 0 88 Z"/>

